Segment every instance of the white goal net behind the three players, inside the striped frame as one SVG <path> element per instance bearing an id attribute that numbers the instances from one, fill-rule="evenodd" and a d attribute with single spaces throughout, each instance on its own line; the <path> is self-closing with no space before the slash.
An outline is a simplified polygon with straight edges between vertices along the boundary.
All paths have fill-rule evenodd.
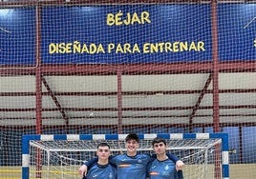
<path id="1" fill-rule="evenodd" d="M 96 146 L 102 141 L 31 141 L 31 178 L 78 179 L 77 169 L 83 161 L 96 157 Z M 124 141 L 107 140 L 113 154 L 125 152 Z M 141 140 L 139 152 L 153 153 L 152 140 Z M 214 178 L 214 163 L 220 139 L 168 140 L 167 151 L 185 163 L 184 178 Z M 40 156 L 38 155 L 40 153 Z M 220 158 L 220 157 L 219 157 Z M 221 158 L 220 158 L 221 159 Z M 38 164 L 38 161 L 40 161 Z M 39 165 L 39 166 L 38 166 Z"/>

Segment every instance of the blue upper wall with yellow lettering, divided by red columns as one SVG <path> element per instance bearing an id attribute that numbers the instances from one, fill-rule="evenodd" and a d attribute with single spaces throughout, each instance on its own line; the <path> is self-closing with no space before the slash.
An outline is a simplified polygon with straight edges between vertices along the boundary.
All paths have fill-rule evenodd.
<path id="1" fill-rule="evenodd" d="M 111 14 L 116 17 L 116 24 L 111 24 Z M 124 25 L 123 21 L 129 19 L 127 14 L 133 21 Z M 39 44 L 42 62 L 211 61 L 210 17 L 209 4 L 44 7 Z M 35 65 L 35 19 L 34 8 L 0 10 L 4 29 L 0 30 L 0 65 Z M 219 59 L 255 60 L 255 31 L 255 4 L 219 4 Z M 182 45 L 188 49 L 181 48 Z"/>

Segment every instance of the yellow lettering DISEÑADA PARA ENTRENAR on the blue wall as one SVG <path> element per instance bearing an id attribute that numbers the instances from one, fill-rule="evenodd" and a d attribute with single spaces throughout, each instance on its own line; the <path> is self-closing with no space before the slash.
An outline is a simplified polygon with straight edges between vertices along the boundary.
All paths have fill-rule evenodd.
<path id="1" fill-rule="evenodd" d="M 256 47 L 256 40 L 253 41 L 253 46 Z M 130 43 L 110 43 L 107 44 L 108 53 L 161 53 L 161 52 L 181 52 L 181 51 L 204 51 L 204 42 L 158 42 L 144 43 L 141 47 Z M 140 51 L 140 48 L 142 48 Z M 48 47 L 49 53 L 105 53 L 102 44 L 81 44 L 79 41 L 73 43 L 51 43 Z"/>

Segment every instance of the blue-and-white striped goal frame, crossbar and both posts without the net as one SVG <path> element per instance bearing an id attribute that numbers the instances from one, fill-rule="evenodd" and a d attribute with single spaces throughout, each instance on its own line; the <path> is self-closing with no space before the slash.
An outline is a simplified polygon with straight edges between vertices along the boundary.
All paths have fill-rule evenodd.
<path id="1" fill-rule="evenodd" d="M 90 141 L 124 141 L 127 134 L 53 134 L 53 135 L 23 135 L 22 137 L 22 179 L 30 178 L 30 165 L 31 165 L 31 151 L 30 146 L 36 147 L 37 149 L 44 149 L 47 151 L 95 151 L 96 147 L 92 149 L 86 149 L 83 143 L 88 143 Z M 229 179 L 229 147 L 228 147 L 228 134 L 226 133 L 150 133 L 150 134 L 139 134 L 140 140 L 152 140 L 155 137 L 162 137 L 166 140 L 176 141 L 178 146 L 175 149 L 203 149 L 205 146 L 211 148 L 216 144 L 221 145 L 222 149 L 222 178 Z M 181 140 L 195 140 L 200 139 L 201 143 L 190 144 L 190 146 L 185 146 L 181 144 Z M 212 140 L 210 144 L 207 142 Z M 60 143 L 63 141 L 67 142 L 81 142 L 80 146 L 75 145 L 63 145 L 59 144 L 61 148 L 52 148 L 52 142 Z M 178 142 L 177 142 L 178 141 Z M 44 144 L 42 145 L 42 142 Z M 179 146 L 181 145 L 181 146 Z M 182 146 L 183 145 L 183 146 Z M 193 146 L 194 145 L 194 146 Z M 65 147 L 66 146 L 66 147 Z M 168 149 L 172 149 L 173 144 L 168 146 Z M 63 149 L 65 147 L 65 149 Z M 120 151 L 120 148 L 113 146 L 113 151 Z M 121 149 L 124 150 L 124 149 Z M 139 149 L 143 150 L 143 149 Z"/>

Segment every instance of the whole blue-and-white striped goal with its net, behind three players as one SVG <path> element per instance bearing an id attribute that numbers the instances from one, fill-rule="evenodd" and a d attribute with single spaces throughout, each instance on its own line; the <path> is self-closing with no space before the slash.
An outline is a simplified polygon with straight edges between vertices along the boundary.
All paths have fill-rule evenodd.
<path id="1" fill-rule="evenodd" d="M 78 179 L 83 161 L 95 157 L 96 145 L 106 141 L 114 154 L 124 150 L 127 134 L 23 135 L 22 179 Z M 168 152 L 185 163 L 185 178 L 229 178 L 229 147 L 226 133 L 139 134 L 139 152 L 153 152 L 155 137 L 167 141 Z"/>

